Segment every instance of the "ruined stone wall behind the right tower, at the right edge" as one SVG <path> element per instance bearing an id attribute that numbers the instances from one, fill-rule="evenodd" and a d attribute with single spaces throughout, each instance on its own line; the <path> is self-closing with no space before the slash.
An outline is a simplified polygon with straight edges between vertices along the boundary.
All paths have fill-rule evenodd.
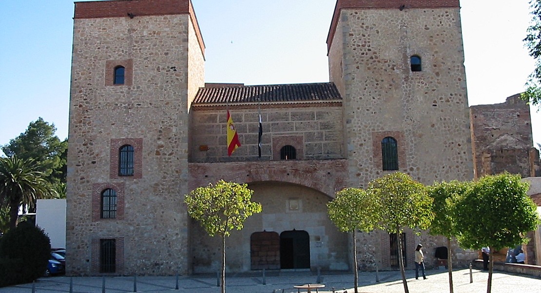
<path id="1" fill-rule="evenodd" d="M 504 103 L 470 107 L 476 178 L 508 171 L 522 177 L 540 175 L 533 148 L 530 106 L 520 94 Z"/>

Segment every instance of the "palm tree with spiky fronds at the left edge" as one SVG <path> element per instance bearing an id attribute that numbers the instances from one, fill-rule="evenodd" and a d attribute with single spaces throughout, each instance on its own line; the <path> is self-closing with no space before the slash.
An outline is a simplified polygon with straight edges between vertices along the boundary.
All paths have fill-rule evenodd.
<path id="1" fill-rule="evenodd" d="M 0 209 L 9 208 L 9 227 L 15 228 L 19 206 L 34 207 L 36 199 L 56 193 L 37 171 L 34 160 L 0 158 Z"/>

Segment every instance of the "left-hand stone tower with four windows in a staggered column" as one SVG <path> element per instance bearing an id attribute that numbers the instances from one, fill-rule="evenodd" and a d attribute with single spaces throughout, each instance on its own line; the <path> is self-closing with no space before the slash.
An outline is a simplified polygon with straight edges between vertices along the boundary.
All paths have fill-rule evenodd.
<path id="1" fill-rule="evenodd" d="M 204 86 L 190 0 L 75 3 L 69 275 L 189 272 L 188 109 Z"/>

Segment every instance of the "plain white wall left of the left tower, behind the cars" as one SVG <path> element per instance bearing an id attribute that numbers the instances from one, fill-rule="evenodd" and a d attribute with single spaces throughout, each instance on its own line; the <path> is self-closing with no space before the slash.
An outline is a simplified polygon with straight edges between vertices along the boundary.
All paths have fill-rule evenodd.
<path id="1" fill-rule="evenodd" d="M 66 247 L 66 200 L 38 199 L 36 203 L 36 226 L 42 228 L 51 239 L 51 248 Z"/>

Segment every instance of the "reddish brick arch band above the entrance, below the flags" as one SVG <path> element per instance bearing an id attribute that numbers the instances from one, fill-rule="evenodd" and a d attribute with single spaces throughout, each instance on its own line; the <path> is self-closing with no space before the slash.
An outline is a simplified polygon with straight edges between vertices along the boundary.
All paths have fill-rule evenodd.
<path id="1" fill-rule="evenodd" d="M 237 183 L 278 181 L 312 188 L 334 198 L 346 187 L 346 160 L 190 163 L 189 188 L 207 186 L 223 179 Z"/>

